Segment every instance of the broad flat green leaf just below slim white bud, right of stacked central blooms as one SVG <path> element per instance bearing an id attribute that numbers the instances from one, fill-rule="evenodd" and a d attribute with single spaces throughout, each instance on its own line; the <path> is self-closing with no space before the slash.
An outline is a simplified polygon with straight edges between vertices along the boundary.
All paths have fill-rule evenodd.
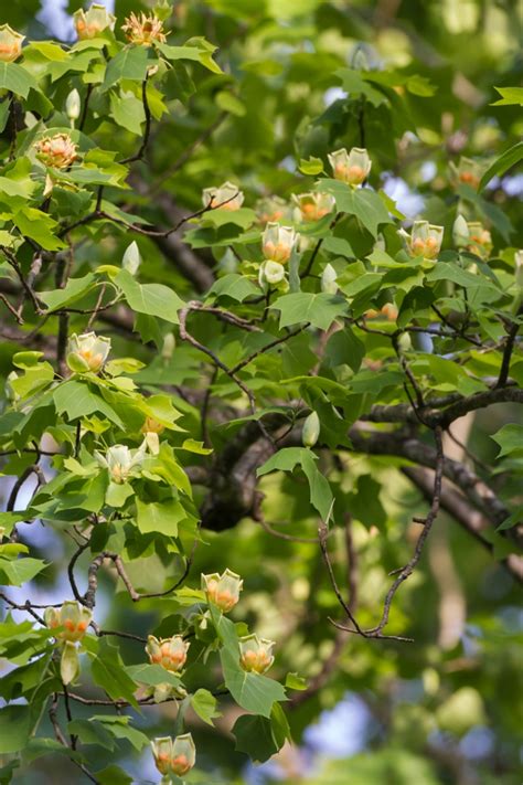
<path id="1" fill-rule="evenodd" d="M 345 316 L 349 311 L 342 297 L 323 291 L 319 294 L 297 291 L 292 295 L 284 295 L 278 297 L 270 308 L 280 311 L 280 329 L 308 321 L 320 330 L 328 330 L 334 319 Z"/>

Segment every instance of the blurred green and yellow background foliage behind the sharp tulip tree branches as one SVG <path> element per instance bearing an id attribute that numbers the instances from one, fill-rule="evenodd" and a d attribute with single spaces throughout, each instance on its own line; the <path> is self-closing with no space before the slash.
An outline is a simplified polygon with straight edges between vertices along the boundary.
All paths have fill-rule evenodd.
<path id="1" fill-rule="evenodd" d="M 49 0 L 43 9 L 38 0 L 3 2 L 1 21 L 30 38 L 53 34 L 66 42 L 72 30 L 67 14 L 81 6 L 79 0 L 71 0 L 66 8 L 60 0 Z M 114 10 L 121 20 L 140 8 L 149 6 L 116 0 Z M 410 92 L 395 85 L 388 105 L 371 105 L 365 114 L 372 183 L 384 179 L 396 199 L 403 194 L 405 212 L 408 205 L 413 214 L 423 210 L 424 216 L 449 229 L 453 219 L 447 201 L 449 160 L 461 155 L 494 157 L 523 130 L 517 106 L 493 105 L 500 98 L 495 88 L 521 84 L 521 7 L 512 0 L 175 2 L 169 22 L 175 38 L 178 32 L 180 42 L 205 35 L 220 47 L 216 59 L 225 74 L 173 70 L 169 78 L 177 81 L 173 92 L 181 99 L 170 102 L 169 114 L 154 130 L 150 182 L 134 199 L 154 221 L 162 213 L 161 200 L 154 198 L 160 185 L 183 208 L 198 208 L 202 188 L 227 179 L 242 184 L 248 203 L 264 194 L 288 197 L 300 182 L 296 171 L 300 158 L 323 157 L 334 138 L 339 146 L 359 145 L 357 113 L 344 102 L 343 77 L 337 72 L 363 54 L 373 66 L 421 77 Z M 206 144 L 171 174 L 173 162 L 209 128 L 214 130 Z M 134 144 L 129 137 L 129 149 Z M 110 149 L 109 139 L 105 146 Z M 512 172 L 492 183 L 491 203 L 505 216 L 495 211 L 490 216 L 494 246 L 503 242 L 509 220 L 516 229 L 511 244 L 521 247 L 521 226 L 516 237 L 522 181 L 523 174 Z M 120 258 L 127 242 L 121 236 L 100 244 L 97 263 Z M 147 240 L 140 247 L 147 258 L 143 273 L 161 279 L 158 247 Z M 170 275 L 183 295 L 186 279 L 175 272 Z M 8 349 L 2 352 L 6 367 L 9 354 Z M 509 405 L 499 405 L 473 418 L 463 438 L 487 466 L 497 453 L 489 434 L 515 416 Z M 388 585 L 387 572 L 404 563 L 412 548 L 417 533 L 412 517 L 424 502 L 398 479 L 389 459 L 348 460 L 350 481 L 340 489 L 345 499 L 359 478 L 381 484 L 374 506 L 354 515 L 350 528 L 350 547 L 357 554 L 352 567 L 360 620 L 372 625 Z M 287 531 L 285 524 L 291 520 L 292 534 L 311 537 L 316 522 L 293 488 L 280 475 L 264 479 L 265 519 L 282 524 L 280 531 Z M 341 566 L 345 539 L 340 528 L 330 541 L 332 559 Z M 250 519 L 226 532 L 206 532 L 205 541 L 193 575 L 221 570 L 234 556 L 231 566 L 245 577 L 242 613 L 260 634 L 279 641 L 281 672 L 298 671 L 313 681 L 330 657 L 333 667 L 307 700 L 296 693 L 290 709 L 295 747 L 285 747 L 262 767 L 254 768 L 235 751 L 225 731 L 231 717 L 218 721 L 220 733 L 194 722 L 200 774 L 194 773 L 191 782 L 521 783 L 521 595 L 503 567 L 453 521 L 440 516 L 423 564 L 394 606 L 392 632 L 408 630 L 414 644 L 337 635 L 327 620 L 338 616 L 335 597 L 314 544 L 273 537 Z M 36 587 L 46 601 L 55 592 L 61 596 L 66 553 L 61 554 L 45 532 L 41 548 L 54 558 L 47 585 Z M 162 564 L 149 561 L 147 569 L 151 591 L 154 575 L 163 585 Z M 105 602 L 100 597 L 104 625 L 141 635 L 154 625 L 160 625 L 159 632 L 168 626 L 169 600 L 162 601 L 158 618 L 141 604 L 129 613 L 121 594 L 109 604 L 113 591 L 110 585 Z M 141 658 L 132 643 L 122 645 L 121 651 L 128 662 Z M 194 681 L 205 686 L 207 679 L 211 685 L 211 676 L 205 666 L 198 666 Z M 147 728 L 149 735 L 170 732 L 171 711 L 160 707 L 148 715 L 147 722 L 154 718 Z M 106 763 L 111 762 L 107 752 Z M 65 771 L 67 782 L 82 782 L 75 778 L 82 775 L 66 765 L 62 777 L 53 759 L 42 759 L 31 779 L 25 774 L 25 782 L 65 782 Z M 148 762 L 126 766 L 136 772 L 136 782 L 154 777 Z"/>

